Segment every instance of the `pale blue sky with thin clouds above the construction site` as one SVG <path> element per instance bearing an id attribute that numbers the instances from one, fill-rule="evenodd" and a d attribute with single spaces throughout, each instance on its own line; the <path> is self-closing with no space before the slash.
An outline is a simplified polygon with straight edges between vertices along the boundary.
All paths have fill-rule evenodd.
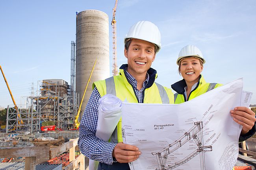
<path id="1" fill-rule="evenodd" d="M 0 2 L 0 65 L 17 104 L 31 95 L 32 82 L 63 79 L 70 83 L 70 41 L 76 36 L 76 11 L 96 9 L 109 16 L 109 35 L 115 0 L 9 0 Z M 119 0 L 117 63 L 127 63 L 123 38 L 131 25 L 149 20 L 161 32 L 162 48 L 152 67 L 157 82 L 170 87 L 181 79 L 176 59 L 182 47 L 196 45 L 206 63 L 208 82 L 228 83 L 243 77 L 244 90 L 256 104 L 255 0 Z M 112 39 L 109 38 L 110 66 Z M 0 107 L 11 97 L 0 76 Z M 35 91 L 34 90 L 34 91 Z M 22 100 L 24 103 L 24 100 Z"/>

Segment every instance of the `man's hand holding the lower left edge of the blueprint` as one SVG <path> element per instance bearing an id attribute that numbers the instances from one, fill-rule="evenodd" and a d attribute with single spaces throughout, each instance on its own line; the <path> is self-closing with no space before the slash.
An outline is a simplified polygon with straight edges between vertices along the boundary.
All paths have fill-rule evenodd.
<path id="1" fill-rule="evenodd" d="M 139 148 L 122 142 L 117 143 L 112 152 L 112 156 L 115 157 L 119 163 L 135 161 L 140 154 L 141 152 L 139 152 Z"/>

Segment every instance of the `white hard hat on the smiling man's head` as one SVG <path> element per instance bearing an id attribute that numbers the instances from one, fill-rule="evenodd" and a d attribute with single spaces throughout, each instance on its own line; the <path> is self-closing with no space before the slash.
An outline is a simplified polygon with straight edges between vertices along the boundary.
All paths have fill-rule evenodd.
<path id="1" fill-rule="evenodd" d="M 158 27 L 149 21 L 139 21 L 132 25 L 126 36 L 124 37 L 124 44 L 135 38 L 153 43 L 156 46 L 156 52 L 161 48 L 161 34 Z"/>

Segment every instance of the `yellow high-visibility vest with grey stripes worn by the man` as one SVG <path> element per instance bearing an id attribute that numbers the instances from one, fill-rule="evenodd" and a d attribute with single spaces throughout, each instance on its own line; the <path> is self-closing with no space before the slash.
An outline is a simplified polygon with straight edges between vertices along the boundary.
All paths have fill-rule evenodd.
<path id="1" fill-rule="evenodd" d="M 155 74 L 154 79 L 157 77 Z M 138 99 L 134 93 L 132 85 L 126 79 L 124 70 L 120 69 L 118 76 L 110 77 L 106 80 L 96 81 L 93 83 L 93 88 L 96 86 L 100 96 L 105 94 L 113 94 L 119 99 L 124 101 L 127 99 L 128 103 L 138 103 Z M 163 87 L 160 84 L 154 82 L 151 87 L 146 86 L 144 89 L 143 103 L 165 103 L 173 104 L 174 96 L 171 89 Z M 122 118 L 119 120 L 117 127 L 115 128 L 110 142 L 118 143 L 122 142 Z"/>

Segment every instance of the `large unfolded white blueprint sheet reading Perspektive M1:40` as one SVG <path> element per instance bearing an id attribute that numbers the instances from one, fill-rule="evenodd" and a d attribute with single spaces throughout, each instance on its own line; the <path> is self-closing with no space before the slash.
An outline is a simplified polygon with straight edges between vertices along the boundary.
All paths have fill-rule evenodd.
<path id="1" fill-rule="evenodd" d="M 131 170 L 232 170 L 241 127 L 230 110 L 249 105 L 242 79 L 188 102 L 123 103 L 122 137 L 141 155 Z"/>

